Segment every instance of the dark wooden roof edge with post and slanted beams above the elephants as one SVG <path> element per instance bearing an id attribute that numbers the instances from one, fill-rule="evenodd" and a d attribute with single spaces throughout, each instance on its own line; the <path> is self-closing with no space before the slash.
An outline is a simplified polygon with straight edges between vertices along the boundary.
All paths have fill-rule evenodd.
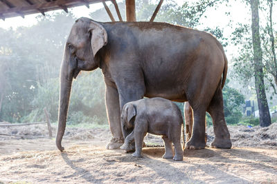
<path id="1" fill-rule="evenodd" d="M 111 21 L 115 21 L 109 7 L 106 4 L 106 1 L 114 3 L 118 19 L 123 21 L 116 0 L 0 0 L 0 19 L 5 20 L 9 17 L 18 16 L 24 18 L 27 14 L 35 13 L 45 15 L 45 12 L 52 10 L 64 10 L 65 12 L 68 12 L 68 8 L 73 8 L 75 6 L 87 6 L 87 8 L 89 8 L 89 4 L 91 3 L 102 2 Z M 163 0 L 160 0 L 150 21 L 154 21 L 154 18 L 156 17 L 157 12 L 159 12 L 159 8 L 161 8 L 162 3 Z M 127 21 L 136 21 L 135 0 L 125 0 L 125 5 Z"/>

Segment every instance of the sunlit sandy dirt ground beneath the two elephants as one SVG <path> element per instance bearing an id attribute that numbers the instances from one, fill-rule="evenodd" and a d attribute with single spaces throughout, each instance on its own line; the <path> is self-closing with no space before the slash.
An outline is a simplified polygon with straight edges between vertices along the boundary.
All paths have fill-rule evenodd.
<path id="1" fill-rule="evenodd" d="M 0 132 L 47 133 L 41 125 L 32 128 Z M 163 147 L 143 148 L 143 158 L 106 150 L 111 137 L 107 129 L 66 129 L 62 153 L 55 139 L 0 136 L 0 183 L 277 183 L 276 128 L 277 123 L 269 129 L 229 127 L 232 149 L 185 150 L 184 161 L 161 159 Z M 162 143 L 152 135 L 145 142 Z"/>

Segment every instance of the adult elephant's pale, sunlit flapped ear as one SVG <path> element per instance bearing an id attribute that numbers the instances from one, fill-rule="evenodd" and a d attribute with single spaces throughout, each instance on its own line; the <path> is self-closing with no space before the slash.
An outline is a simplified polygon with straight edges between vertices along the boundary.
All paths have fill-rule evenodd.
<path id="1" fill-rule="evenodd" d="M 91 49 L 95 57 L 98 50 L 107 44 L 107 32 L 100 23 L 95 21 L 91 21 L 89 31 L 91 32 Z"/>

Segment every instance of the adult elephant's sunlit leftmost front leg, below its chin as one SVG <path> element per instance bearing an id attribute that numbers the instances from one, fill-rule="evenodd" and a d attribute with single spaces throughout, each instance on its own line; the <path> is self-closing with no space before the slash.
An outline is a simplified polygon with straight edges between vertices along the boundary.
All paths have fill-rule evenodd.
<path id="1" fill-rule="evenodd" d="M 113 138 L 107 144 L 107 149 L 118 149 L 124 143 L 120 124 L 120 104 L 116 88 L 107 85 L 106 88 L 106 108 L 109 121 L 109 129 Z"/>

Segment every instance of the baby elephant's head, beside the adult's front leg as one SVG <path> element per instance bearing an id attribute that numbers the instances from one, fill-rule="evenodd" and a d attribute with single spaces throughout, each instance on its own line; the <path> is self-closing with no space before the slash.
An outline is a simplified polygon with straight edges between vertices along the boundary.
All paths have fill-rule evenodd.
<path id="1" fill-rule="evenodd" d="M 126 132 L 127 134 L 129 134 L 130 130 L 134 127 L 135 117 L 136 117 L 136 106 L 132 103 L 126 103 L 123 106 L 123 109 L 121 112 L 122 132 Z M 127 134 L 123 136 L 126 137 Z"/>

